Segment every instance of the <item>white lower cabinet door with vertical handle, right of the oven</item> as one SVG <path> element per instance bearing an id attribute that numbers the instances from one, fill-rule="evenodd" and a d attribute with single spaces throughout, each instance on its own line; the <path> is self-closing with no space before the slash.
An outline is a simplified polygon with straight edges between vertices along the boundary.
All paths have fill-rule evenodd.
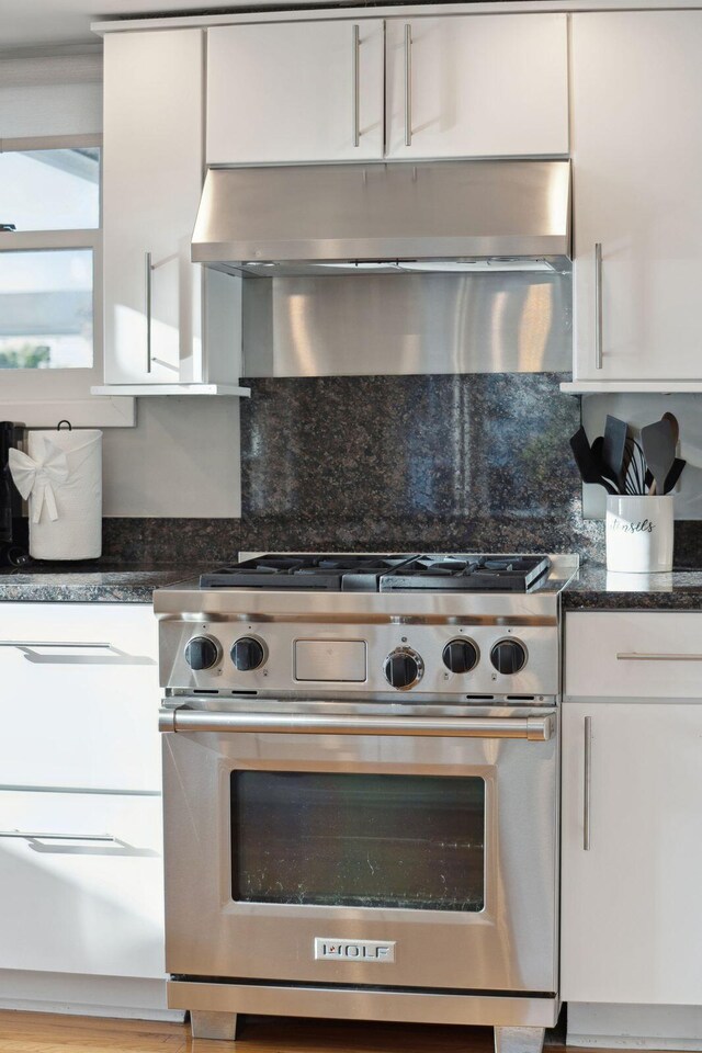
<path id="1" fill-rule="evenodd" d="M 702 704 L 563 706 L 562 852 L 562 997 L 702 1004 Z"/>

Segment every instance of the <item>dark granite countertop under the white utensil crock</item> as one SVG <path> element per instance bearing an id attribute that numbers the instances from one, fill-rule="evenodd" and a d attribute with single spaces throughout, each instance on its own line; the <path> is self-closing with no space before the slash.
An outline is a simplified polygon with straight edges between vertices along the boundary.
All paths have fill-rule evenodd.
<path id="1" fill-rule="evenodd" d="M 702 569 L 613 574 L 585 563 L 563 593 L 565 611 L 702 611 Z"/>

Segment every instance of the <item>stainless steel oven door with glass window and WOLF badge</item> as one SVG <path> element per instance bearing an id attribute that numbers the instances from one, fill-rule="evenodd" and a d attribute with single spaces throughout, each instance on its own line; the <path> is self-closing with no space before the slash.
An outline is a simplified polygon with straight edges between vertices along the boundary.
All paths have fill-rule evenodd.
<path id="1" fill-rule="evenodd" d="M 556 990 L 554 709 L 248 706 L 162 710 L 169 973 Z"/>

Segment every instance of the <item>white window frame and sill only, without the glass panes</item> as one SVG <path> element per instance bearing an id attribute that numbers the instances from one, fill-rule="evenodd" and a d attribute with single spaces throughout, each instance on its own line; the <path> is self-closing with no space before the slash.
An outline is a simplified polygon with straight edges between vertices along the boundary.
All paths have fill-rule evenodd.
<path id="1" fill-rule="evenodd" d="M 0 154 L 100 147 L 102 135 L 27 136 L 0 139 Z M 12 216 L 0 222 L 11 223 Z M 91 369 L 0 370 L 0 418 L 32 427 L 52 427 L 66 418 L 77 427 L 133 427 L 135 399 L 90 394 L 104 378 L 102 273 L 102 154 L 100 214 L 94 229 L 0 231 L 0 252 L 52 249 L 92 251 L 93 361 Z"/>

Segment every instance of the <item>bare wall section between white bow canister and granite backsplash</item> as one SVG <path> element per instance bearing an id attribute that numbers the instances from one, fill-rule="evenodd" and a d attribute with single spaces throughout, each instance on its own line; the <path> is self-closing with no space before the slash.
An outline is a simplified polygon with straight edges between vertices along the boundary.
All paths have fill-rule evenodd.
<path id="1" fill-rule="evenodd" d="M 240 514 L 238 398 L 140 398 L 102 441 L 104 516 Z"/>

